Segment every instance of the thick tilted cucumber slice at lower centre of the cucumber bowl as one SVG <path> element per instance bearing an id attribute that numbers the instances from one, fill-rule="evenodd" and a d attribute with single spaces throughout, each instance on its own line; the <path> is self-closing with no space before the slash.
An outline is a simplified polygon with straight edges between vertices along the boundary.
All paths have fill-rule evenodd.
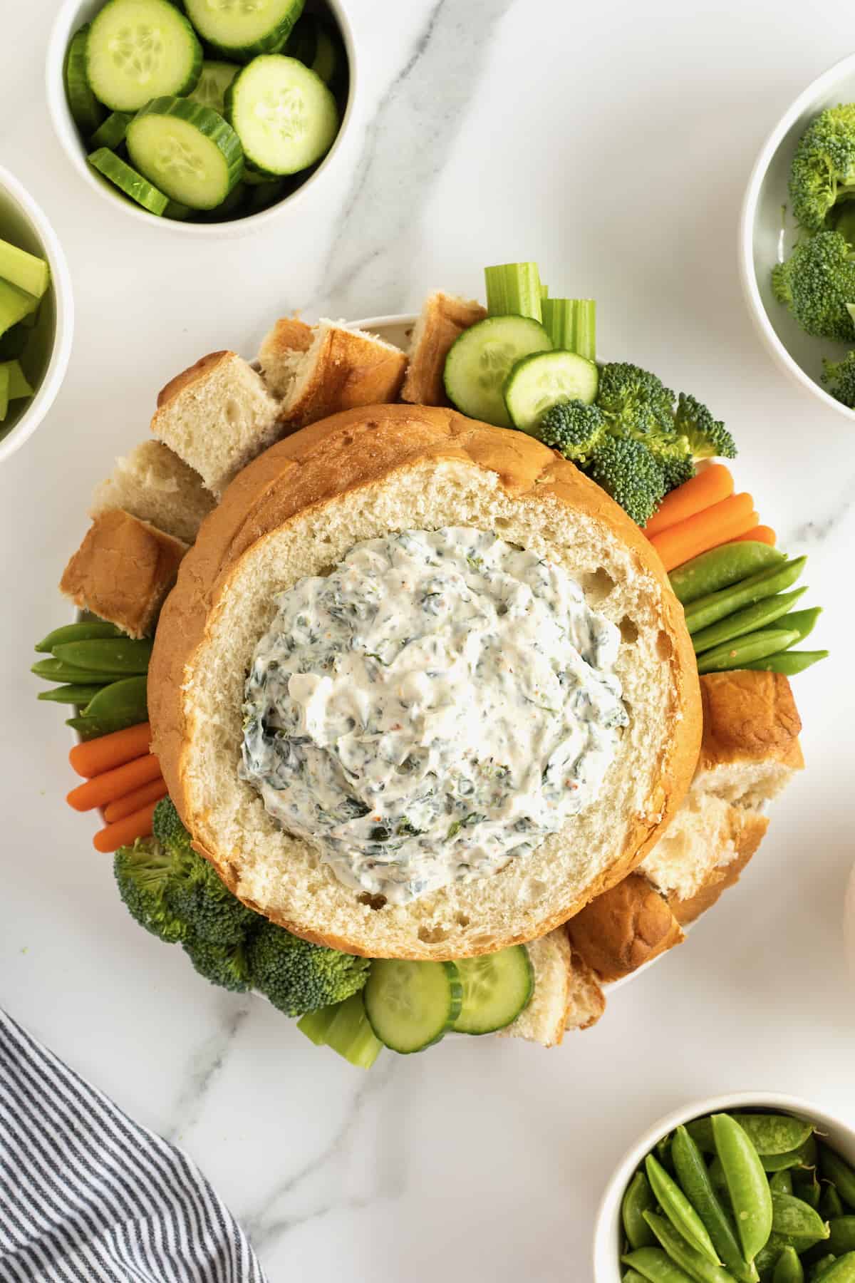
<path id="1" fill-rule="evenodd" d="M 128 126 L 128 153 L 170 200 L 191 209 L 220 205 L 244 173 L 231 124 L 187 98 L 155 98 Z"/>

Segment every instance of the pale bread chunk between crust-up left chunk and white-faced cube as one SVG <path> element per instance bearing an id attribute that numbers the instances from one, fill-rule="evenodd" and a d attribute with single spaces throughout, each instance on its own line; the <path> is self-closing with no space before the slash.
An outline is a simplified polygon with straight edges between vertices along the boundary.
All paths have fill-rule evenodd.
<path id="1" fill-rule="evenodd" d="M 214 495 L 183 459 L 162 441 L 141 441 L 96 488 L 90 517 L 115 508 L 192 544 L 215 504 Z"/>

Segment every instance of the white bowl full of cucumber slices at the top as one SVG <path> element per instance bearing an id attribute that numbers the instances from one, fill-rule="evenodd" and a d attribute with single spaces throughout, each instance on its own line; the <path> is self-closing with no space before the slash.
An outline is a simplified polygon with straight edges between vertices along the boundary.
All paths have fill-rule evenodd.
<path id="1" fill-rule="evenodd" d="M 65 0 L 47 103 L 77 172 L 132 217 L 249 231 L 327 172 L 350 121 L 340 0 Z"/>

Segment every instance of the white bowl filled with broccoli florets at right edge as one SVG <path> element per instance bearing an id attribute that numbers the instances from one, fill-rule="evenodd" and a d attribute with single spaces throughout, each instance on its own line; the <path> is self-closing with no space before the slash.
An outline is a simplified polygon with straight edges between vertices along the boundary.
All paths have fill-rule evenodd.
<path id="1" fill-rule="evenodd" d="M 763 144 L 742 205 L 740 273 L 777 364 L 852 418 L 855 106 L 847 104 L 855 104 L 855 54 L 809 85 Z"/>

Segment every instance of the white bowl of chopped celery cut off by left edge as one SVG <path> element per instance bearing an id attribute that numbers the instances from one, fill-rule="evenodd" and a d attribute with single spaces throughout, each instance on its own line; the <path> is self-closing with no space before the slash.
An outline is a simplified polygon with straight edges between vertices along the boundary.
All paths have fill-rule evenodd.
<path id="1" fill-rule="evenodd" d="M 74 305 L 47 218 L 0 166 L 0 463 L 36 431 L 62 384 Z"/>

